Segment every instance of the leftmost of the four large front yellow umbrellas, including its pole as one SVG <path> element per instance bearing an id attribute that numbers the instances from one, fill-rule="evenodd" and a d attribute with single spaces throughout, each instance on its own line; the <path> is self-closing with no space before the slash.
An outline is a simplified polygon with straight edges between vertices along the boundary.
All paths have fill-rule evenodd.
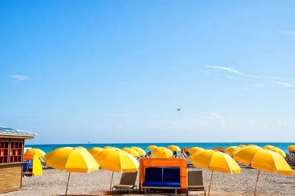
<path id="1" fill-rule="evenodd" d="M 59 169 L 69 172 L 68 182 L 66 185 L 65 195 L 69 185 L 71 172 L 86 173 L 97 170 L 99 165 L 91 156 L 91 154 L 80 148 L 58 148 L 44 156 L 46 165 L 51 168 Z"/>

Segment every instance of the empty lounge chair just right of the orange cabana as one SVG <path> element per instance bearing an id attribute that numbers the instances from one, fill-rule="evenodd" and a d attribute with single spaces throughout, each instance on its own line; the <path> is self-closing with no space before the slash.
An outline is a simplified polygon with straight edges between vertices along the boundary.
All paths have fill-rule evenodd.
<path id="1" fill-rule="evenodd" d="M 204 191 L 206 196 L 206 190 L 204 186 L 203 171 L 188 171 L 187 172 L 187 190 L 186 196 L 189 191 Z"/>

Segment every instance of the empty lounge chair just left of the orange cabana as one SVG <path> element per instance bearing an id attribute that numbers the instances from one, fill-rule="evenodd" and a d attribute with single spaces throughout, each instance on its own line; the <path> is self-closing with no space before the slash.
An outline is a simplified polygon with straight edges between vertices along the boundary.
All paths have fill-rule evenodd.
<path id="1" fill-rule="evenodd" d="M 114 194 L 114 188 L 115 188 L 115 193 L 117 190 L 118 192 L 122 189 L 129 190 L 129 195 L 130 195 L 130 191 L 131 193 L 132 192 L 134 193 L 134 191 L 137 191 L 137 186 L 135 185 L 137 172 L 138 171 L 122 173 L 120 184 L 117 184 L 112 188 L 113 194 Z"/>

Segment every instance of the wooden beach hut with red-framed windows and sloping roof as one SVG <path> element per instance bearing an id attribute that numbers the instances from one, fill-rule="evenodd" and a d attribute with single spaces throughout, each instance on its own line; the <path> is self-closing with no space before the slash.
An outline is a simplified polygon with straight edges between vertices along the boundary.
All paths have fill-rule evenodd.
<path id="1" fill-rule="evenodd" d="M 22 188 L 25 139 L 36 135 L 0 126 L 0 194 Z"/>

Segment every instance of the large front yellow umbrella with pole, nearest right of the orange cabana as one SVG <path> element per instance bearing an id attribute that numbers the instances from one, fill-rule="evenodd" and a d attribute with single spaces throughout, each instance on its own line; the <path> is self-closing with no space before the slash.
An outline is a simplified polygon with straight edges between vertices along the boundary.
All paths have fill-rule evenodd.
<path id="1" fill-rule="evenodd" d="M 205 169 L 209 168 L 209 170 L 212 171 L 208 196 L 210 196 L 213 171 L 219 171 L 223 173 L 241 172 L 241 168 L 230 155 L 217 150 L 199 150 L 198 152 L 190 155 L 189 158 L 194 165 Z"/>

